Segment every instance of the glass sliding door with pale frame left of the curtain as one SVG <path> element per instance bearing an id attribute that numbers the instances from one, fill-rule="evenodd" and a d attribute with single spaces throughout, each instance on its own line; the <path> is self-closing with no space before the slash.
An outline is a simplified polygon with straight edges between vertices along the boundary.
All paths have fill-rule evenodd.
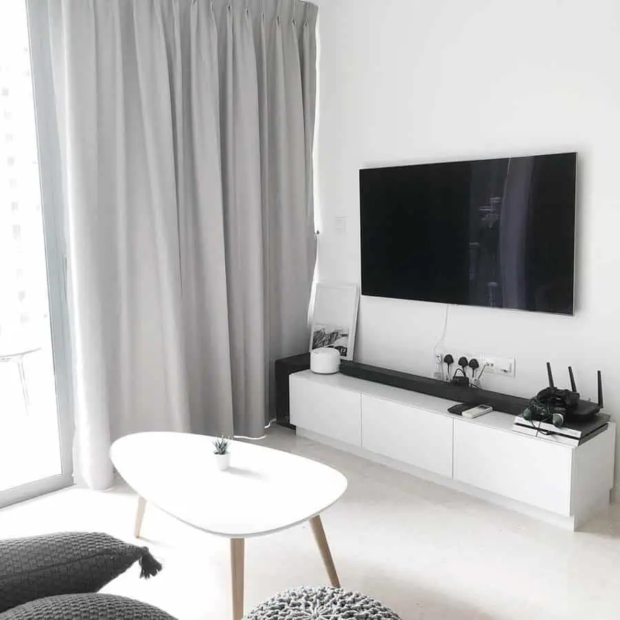
<path id="1" fill-rule="evenodd" d="M 59 192 L 25 1 L 0 19 L 0 506 L 72 482 Z M 37 81 L 45 89 L 45 80 Z M 51 94 L 51 93 L 50 93 Z M 51 97 L 40 98 L 51 102 Z M 39 112 L 39 110 L 37 110 Z M 44 111 L 42 111 L 44 112 Z"/>

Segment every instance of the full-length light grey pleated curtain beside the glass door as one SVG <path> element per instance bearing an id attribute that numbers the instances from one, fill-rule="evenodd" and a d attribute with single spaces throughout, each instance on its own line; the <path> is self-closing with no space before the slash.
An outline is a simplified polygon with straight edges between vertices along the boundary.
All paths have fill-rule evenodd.
<path id="1" fill-rule="evenodd" d="M 261 435 L 271 362 L 307 348 L 316 6 L 28 10 L 55 92 L 37 108 L 59 136 L 76 477 L 109 486 L 135 431 Z"/>

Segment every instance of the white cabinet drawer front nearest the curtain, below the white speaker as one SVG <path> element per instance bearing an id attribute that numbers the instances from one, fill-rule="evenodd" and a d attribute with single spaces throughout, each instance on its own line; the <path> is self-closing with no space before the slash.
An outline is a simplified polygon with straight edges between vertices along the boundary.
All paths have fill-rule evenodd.
<path id="1" fill-rule="evenodd" d="M 291 424 L 335 440 L 362 445 L 361 395 L 291 375 Z"/>

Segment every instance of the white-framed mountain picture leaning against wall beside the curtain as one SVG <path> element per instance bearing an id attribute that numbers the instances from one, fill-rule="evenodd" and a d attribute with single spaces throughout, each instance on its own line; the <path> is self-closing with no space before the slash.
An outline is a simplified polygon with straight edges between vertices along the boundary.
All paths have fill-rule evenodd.
<path id="1" fill-rule="evenodd" d="M 341 360 L 353 360 L 360 289 L 354 284 L 317 282 L 310 330 L 310 351 L 330 347 Z"/>

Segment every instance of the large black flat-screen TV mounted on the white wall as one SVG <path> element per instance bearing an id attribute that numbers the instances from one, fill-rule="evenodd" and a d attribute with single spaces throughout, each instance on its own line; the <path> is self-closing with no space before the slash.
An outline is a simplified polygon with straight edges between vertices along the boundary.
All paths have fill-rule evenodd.
<path id="1" fill-rule="evenodd" d="M 577 154 L 360 170 L 362 295 L 573 313 Z"/>

